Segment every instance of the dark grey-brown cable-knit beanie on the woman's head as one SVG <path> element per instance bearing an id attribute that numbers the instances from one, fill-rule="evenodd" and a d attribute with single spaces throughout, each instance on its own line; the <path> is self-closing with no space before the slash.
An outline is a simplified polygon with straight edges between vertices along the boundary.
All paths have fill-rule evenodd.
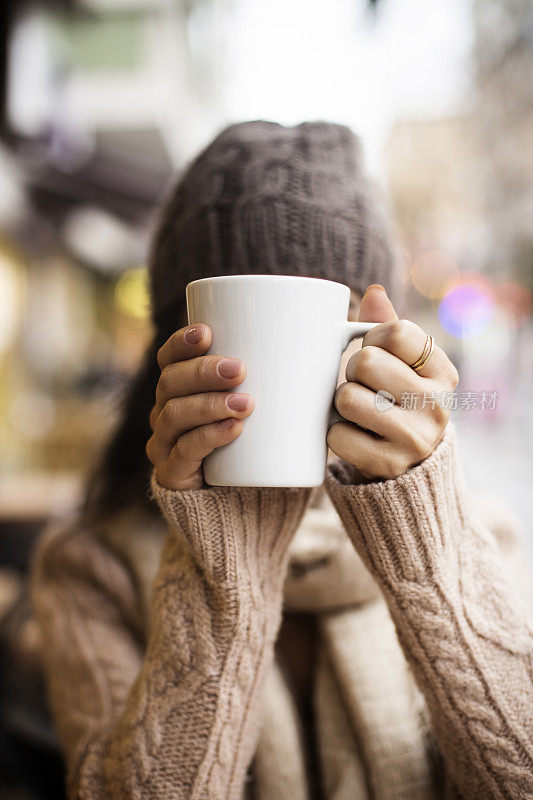
<path id="1" fill-rule="evenodd" d="M 342 125 L 232 125 L 192 162 L 163 211 L 150 279 L 159 329 L 177 327 L 185 286 L 229 274 L 306 275 L 394 298 L 397 253 Z"/>

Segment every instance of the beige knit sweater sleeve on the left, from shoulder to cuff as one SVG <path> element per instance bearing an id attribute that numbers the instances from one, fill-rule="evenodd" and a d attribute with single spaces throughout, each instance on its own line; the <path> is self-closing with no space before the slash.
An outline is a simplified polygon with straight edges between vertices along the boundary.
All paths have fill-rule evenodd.
<path id="1" fill-rule="evenodd" d="M 45 537 L 33 600 L 76 800 L 243 794 L 306 489 L 152 494 L 171 524 L 142 643 L 136 592 L 94 533 Z"/>

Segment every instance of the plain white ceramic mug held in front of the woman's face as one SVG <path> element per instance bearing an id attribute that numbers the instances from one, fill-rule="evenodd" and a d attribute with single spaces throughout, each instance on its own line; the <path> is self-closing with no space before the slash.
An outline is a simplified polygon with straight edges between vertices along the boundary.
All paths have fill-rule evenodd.
<path id="1" fill-rule="evenodd" d="M 320 486 L 340 360 L 375 323 L 349 322 L 350 289 L 292 275 L 224 275 L 187 285 L 189 324 L 213 332 L 207 353 L 240 358 L 234 391 L 255 408 L 204 460 L 211 486 Z"/>

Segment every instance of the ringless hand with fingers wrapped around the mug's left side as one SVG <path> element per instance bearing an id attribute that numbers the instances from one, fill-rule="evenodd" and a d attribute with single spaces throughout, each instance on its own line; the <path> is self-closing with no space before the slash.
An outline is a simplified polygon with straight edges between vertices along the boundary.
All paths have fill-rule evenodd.
<path id="1" fill-rule="evenodd" d="M 204 486 L 203 459 L 236 439 L 254 409 L 252 395 L 231 391 L 246 377 L 244 362 L 202 355 L 211 338 L 208 325 L 188 325 L 157 353 L 161 375 L 146 454 L 166 489 Z"/>

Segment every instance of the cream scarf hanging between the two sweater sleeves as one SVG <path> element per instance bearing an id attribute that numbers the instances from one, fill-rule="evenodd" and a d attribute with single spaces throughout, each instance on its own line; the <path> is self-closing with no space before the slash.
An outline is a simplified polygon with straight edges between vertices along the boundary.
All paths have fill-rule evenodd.
<path id="1" fill-rule="evenodd" d="M 427 719 L 387 607 L 331 505 L 308 508 L 290 551 L 285 606 L 321 636 L 314 708 L 327 800 L 434 798 Z M 298 715 L 273 664 L 254 759 L 258 800 L 309 800 Z"/>

